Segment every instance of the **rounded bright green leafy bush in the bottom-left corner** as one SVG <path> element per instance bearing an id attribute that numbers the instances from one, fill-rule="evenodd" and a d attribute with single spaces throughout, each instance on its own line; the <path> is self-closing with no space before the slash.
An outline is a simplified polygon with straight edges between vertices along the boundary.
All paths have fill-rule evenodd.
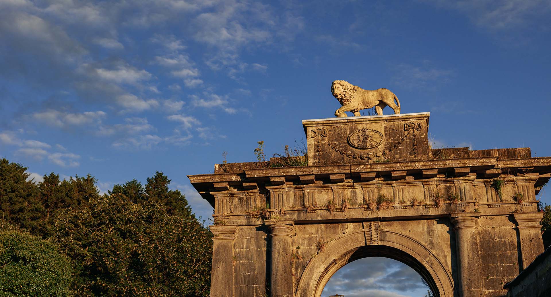
<path id="1" fill-rule="evenodd" d="M 72 296 L 71 264 L 55 245 L 6 222 L 0 226 L 1 296 Z"/>

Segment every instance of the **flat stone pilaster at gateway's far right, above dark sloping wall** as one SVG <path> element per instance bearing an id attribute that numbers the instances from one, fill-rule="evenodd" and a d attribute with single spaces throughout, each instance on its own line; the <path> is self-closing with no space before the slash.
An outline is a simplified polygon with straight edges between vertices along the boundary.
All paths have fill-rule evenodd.
<path id="1" fill-rule="evenodd" d="M 514 213 L 520 238 L 520 250 L 522 254 L 521 270 L 530 265 L 544 250 L 541 228 L 539 224 L 543 218 L 543 212 Z"/>

